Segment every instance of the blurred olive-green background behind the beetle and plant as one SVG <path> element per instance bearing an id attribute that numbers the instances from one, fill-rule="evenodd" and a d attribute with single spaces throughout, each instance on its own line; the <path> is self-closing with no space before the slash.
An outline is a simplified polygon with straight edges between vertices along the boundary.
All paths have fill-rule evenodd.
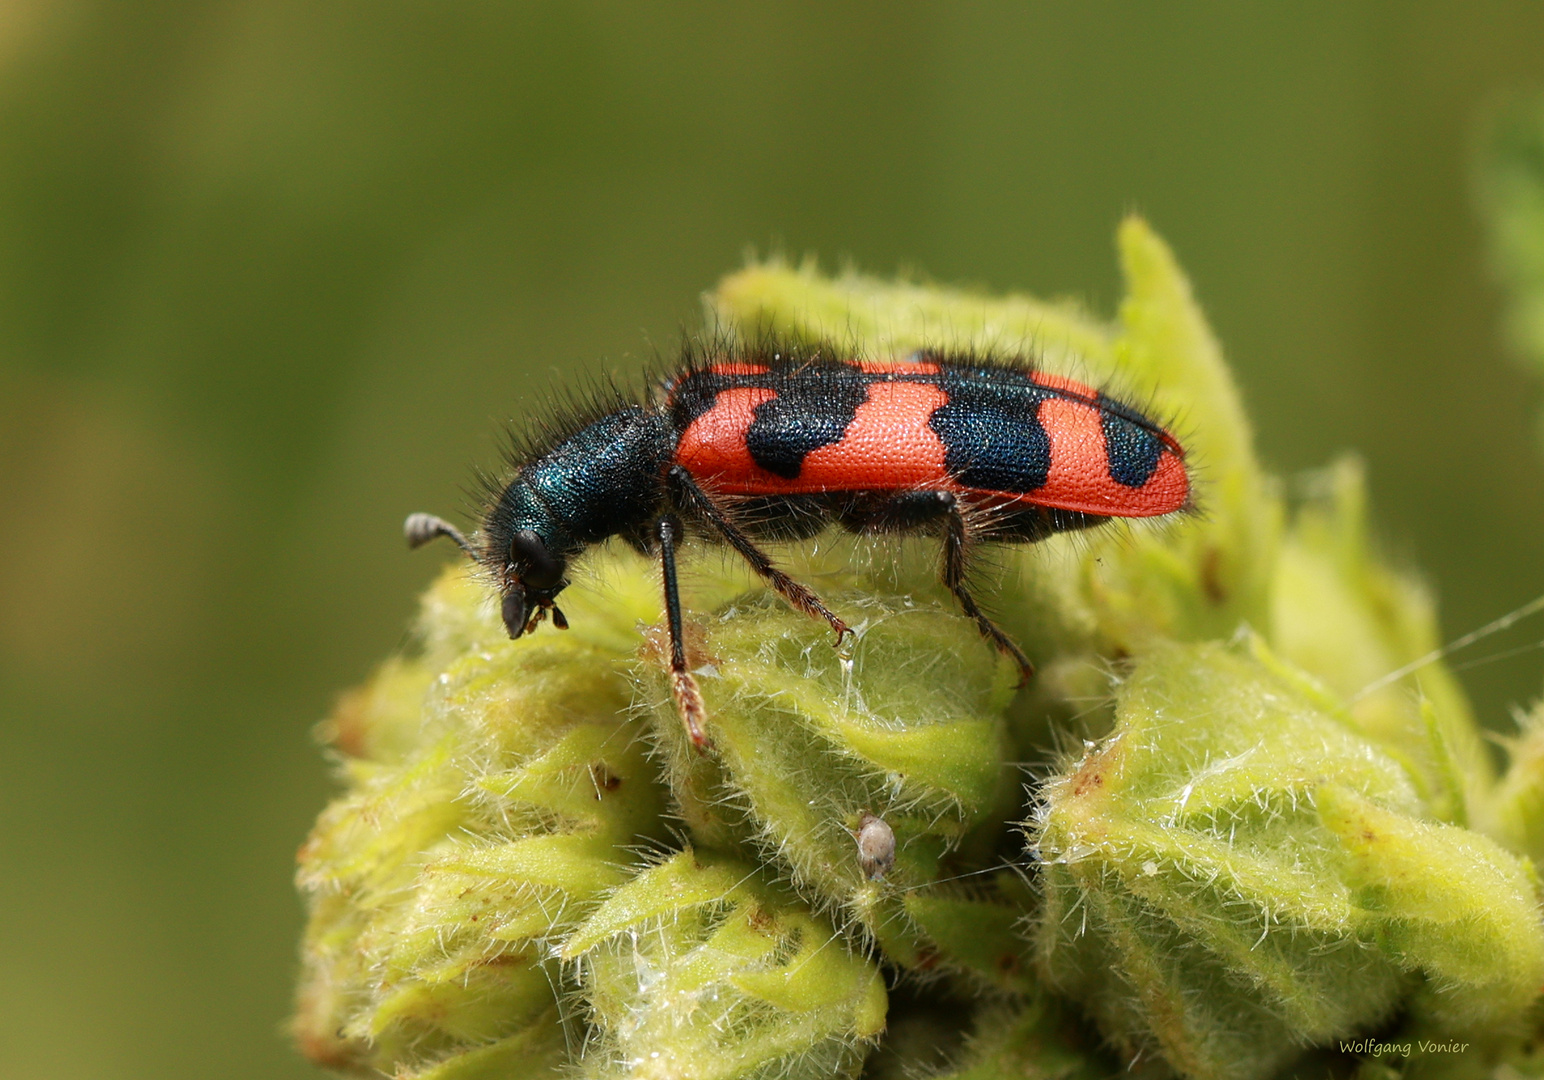
<path id="1" fill-rule="evenodd" d="M 317 1075 L 309 731 L 448 558 L 403 515 L 747 244 L 1109 312 L 1141 210 L 1448 637 L 1544 592 L 1470 172 L 1535 85 L 1533 3 L 0 3 L 0 1075 Z"/>

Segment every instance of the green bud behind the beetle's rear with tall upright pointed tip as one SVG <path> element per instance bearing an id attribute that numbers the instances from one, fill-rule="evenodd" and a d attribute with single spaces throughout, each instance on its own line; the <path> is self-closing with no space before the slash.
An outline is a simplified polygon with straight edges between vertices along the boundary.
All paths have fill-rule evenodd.
<path id="1" fill-rule="evenodd" d="M 1227 637 L 1240 623 L 1268 620 L 1282 515 L 1255 460 L 1238 391 L 1169 247 L 1144 221 L 1129 218 L 1119 250 L 1129 295 L 1116 326 L 1067 303 L 857 273 L 826 280 L 811 266 L 777 261 L 726 278 L 709 300 L 721 323 L 815 340 L 855 337 L 874 355 L 923 346 L 1028 355 L 1175 420 L 1201 477 L 1200 516 L 1122 522 L 1004 555 L 1014 575 L 1002 582 L 1005 599 L 994 607 L 1041 667 L 1042 703 L 1085 700 L 1101 657 L 1136 655 L 1166 638 Z M 1030 731 L 1025 740 L 1044 745 L 1047 734 Z"/>

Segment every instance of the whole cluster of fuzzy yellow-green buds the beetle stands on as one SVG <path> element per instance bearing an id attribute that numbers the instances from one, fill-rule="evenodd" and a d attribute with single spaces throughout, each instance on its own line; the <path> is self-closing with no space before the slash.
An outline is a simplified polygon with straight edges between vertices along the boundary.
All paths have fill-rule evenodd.
<path id="1" fill-rule="evenodd" d="M 1028 688 L 926 541 L 774 550 L 841 652 L 693 548 L 699 749 L 648 561 L 588 553 L 573 629 L 517 641 L 452 565 L 323 728 L 301 1049 L 438 1080 L 1544 1075 L 1544 706 L 1498 769 L 1441 661 L 1387 678 L 1436 616 L 1359 467 L 1288 505 L 1169 249 L 1118 243 L 1113 320 L 780 261 L 707 297 L 720 332 L 1025 355 L 1172 419 L 1198 513 L 976 567 Z"/>

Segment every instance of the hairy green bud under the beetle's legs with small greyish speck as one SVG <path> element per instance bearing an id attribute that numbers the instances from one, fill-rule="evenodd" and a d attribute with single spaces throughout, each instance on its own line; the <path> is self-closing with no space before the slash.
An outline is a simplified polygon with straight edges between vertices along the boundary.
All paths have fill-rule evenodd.
<path id="1" fill-rule="evenodd" d="M 919 890 L 951 876 L 945 856 L 984 825 L 990 842 L 1017 805 L 1004 722 L 1016 671 L 959 615 L 828 596 L 854 624 L 849 654 L 766 596 L 704 627 L 710 752 L 659 684 L 655 731 L 682 816 L 699 844 L 753 853 L 811 902 L 838 905 L 891 959 L 1011 981 L 1017 908 Z M 889 833 L 880 875 L 860 844 L 871 819 Z"/>

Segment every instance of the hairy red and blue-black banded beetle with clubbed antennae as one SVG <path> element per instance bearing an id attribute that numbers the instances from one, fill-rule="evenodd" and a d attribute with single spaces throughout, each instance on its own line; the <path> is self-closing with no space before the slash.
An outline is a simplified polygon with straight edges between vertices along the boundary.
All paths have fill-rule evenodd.
<path id="1" fill-rule="evenodd" d="M 548 425 L 488 485 L 476 541 L 432 515 L 412 547 L 446 536 L 496 584 L 511 638 L 568 621 L 557 595 L 585 548 L 621 536 L 659 559 L 670 688 L 692 742 L 709 743 L 687 667 L 676 552 L 687 535 L 740 553 L 792 607 L 848 624 L 758 547 L 832 522 L 942 536 L 943 586 L 982 637 L 1033 664 L 967 589 L 971 547 L 1034 542 L 1110 518 L 1190 504 L 1180 442 L 1141 411 L 1025 357 L 920 351 L 868 358 L 831 345 L 689 341 L 644 394 L 608 392 Z"/>

